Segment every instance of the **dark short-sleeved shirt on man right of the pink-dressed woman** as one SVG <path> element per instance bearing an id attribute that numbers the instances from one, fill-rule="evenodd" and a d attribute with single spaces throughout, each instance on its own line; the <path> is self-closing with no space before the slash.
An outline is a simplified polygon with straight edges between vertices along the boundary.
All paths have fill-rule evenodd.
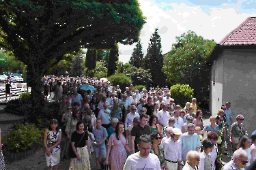
<path id="1" fill-rule="evenodd" d="M 137 149 L 139 137 L 141 137 L 141 135 L 150 135 L 150 126 L 145 125 L 144 127 L 141 127 L 140 124 L 136 124 L 132 127 L 130 135 L 135 137 L 134 149 Z"/>

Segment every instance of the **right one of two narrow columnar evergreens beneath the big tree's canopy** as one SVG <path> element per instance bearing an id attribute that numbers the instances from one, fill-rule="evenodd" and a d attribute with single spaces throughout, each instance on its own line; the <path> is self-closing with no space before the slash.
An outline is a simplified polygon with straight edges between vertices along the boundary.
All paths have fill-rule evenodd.
<path id="1" fill-rule="evenodd" d="M 111 76 L 115 73 L 117 69 L 116 62 L 118 61 L 118 45 L 115 43 L 110 50 L 109 59 L 108 59 L 108 76 Z"/>

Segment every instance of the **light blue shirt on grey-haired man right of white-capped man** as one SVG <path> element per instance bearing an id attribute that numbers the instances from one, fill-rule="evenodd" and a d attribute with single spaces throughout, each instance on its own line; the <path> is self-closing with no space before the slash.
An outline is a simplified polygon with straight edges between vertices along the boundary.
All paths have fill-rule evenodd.
<path id="1" fill-rule="evenodd" d="M 180 140 L 182 141 L 182 159 L 186 161 L 186 154 L 190 150 L 196 150 L 197 147 L 200 147 L 201 141 L 197 133 L 189 135 L 188 132 L 183 133 Z"/>

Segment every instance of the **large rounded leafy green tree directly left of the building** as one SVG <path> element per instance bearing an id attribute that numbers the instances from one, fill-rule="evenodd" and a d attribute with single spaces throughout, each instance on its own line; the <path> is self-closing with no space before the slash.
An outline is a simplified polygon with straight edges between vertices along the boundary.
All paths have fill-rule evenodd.
<path id="1" fill-rule="evenodd" d="M 171 84 L 189 84 L 195 89 L 199 102 L 207 104 L 210 67 L 206 61 L 216 42 L 203 39 L 193 31 L 183 33 L 176 40 L 164 60 L 163 70 L 167 80 Z"/>

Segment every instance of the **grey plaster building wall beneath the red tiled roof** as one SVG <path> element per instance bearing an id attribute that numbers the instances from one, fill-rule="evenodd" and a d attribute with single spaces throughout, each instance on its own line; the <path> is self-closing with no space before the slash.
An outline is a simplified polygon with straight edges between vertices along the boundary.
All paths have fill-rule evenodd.
<path id="1" fill-rule="evenodd" d="M 222 59 L 221 59 L 222 58 Z M 256 130 L 256 50 L 224 50 L 223 99 L 231 102 L 233 122 L 244 116 L 244 126 L 251 135 Z M 221 78 L 221 75 L 219 75 Z"/>

